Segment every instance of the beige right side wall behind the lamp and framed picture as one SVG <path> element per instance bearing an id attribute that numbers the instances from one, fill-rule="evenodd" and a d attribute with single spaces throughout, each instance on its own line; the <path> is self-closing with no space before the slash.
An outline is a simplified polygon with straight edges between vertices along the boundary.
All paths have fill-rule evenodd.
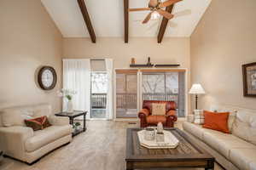
<path id="1" fill-rule="evenodd" d="M 212 103 L 256 109 L 242 92 L 241 65 L 256 61 L 256 1 L 213 0 L 191 37 L 191 82 L 200 82 Z M 193 103 L 194 104 L 194 103 Z"/>

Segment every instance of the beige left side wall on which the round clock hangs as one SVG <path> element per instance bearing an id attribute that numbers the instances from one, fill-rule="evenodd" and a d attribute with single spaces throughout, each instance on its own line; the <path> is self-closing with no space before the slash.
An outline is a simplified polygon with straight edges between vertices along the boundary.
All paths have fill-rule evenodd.
<path id="1" fill-rule="evenodd" d="M 0 1 L 0 108 L 50 103 L 61 108 L 56 90 L 61 87 L 62 37 L 40 0 Z M 42 65 L 55 67 L 54 90 L 37 87 Z"/>

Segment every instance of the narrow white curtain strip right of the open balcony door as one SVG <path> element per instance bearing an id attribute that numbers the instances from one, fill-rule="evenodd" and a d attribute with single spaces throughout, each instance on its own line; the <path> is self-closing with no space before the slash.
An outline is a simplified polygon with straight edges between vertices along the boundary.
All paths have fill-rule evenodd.
<path id="1" fill-rule="evenodd" d="M 105 59 L 106 71 L 108 75 L 108 92 L 107 92 L 107 105 L 106 113 L 107 119 L 113 119 L 113 59 Z"/>

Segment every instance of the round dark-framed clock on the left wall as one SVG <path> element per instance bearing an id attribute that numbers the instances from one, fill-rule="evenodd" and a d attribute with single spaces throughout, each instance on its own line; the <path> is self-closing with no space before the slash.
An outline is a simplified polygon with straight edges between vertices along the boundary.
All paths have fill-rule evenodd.
<path id="1" fill-rule="evenodd" d="M 44 90 L 55 88 L 57 82 L 57 74 L 53 67 L 44 66 L 38 72 L 38 84 Z"/>

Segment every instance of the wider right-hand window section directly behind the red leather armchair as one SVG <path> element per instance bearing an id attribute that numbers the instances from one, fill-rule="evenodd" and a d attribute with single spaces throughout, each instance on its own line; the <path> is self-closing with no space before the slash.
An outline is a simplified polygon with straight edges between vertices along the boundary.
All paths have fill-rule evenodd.
<path id="1" fill-rule="evenodd" d="M 142 95 L 143 100 L 174 101 L 177 116 L 184 116 L 184 72 L 143 71 Z"/>

